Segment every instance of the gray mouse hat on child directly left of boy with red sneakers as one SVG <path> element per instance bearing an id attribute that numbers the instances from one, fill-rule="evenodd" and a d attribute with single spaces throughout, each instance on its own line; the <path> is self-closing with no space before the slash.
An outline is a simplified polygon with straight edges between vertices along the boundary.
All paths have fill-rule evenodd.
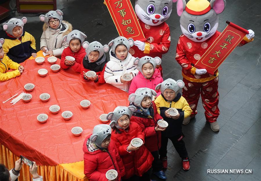
<path id="1" fill-rule="evenodd" d="M 135 93 L 129 95 L 129 102 L 134 103 L 134 105 L 141 107 L 141 101 L 144 97 L 150 97 L 152 100 L 152 96 L 156 96 L 157 93 L 153 89 L 149 88 L 138 88 Z"/>

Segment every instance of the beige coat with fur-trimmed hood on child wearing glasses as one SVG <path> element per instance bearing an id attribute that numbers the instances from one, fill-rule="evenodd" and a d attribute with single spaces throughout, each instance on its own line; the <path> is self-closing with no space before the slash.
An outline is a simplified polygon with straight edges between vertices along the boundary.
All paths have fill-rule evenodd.
<path id="1" fill-rule="evenodd" d="M 61 56 L 64 48 L 68 47 L 68 44 L 63 42 L 62 38 L 73 30 L 71 23 L 62 21 L 62 24 L 65 27 L 64 30 L 62 30 L 62 26 L 56 30 L 51 29 L 46 23 L 43 26 L 40 47 L 46 46 L 48 50 L 53 50 L 54 56 Z"/>

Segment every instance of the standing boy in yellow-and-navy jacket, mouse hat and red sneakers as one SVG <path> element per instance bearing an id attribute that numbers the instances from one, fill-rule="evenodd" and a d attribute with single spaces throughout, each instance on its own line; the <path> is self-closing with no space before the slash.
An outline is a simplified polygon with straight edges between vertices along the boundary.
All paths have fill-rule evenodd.
<path id="1" fill-rule="evenodd" d="M 184 118 L 190 116 L 190 109 L 186 99 L 182 96 L 182 88 L 184 82 L 181 80 L 174 81 L 171 78 L 163 81 L 156 86 L 156 90 L 161 90 L 161 95 L 154 101 L 157 106 L 158 113 L 168 122 L 168 127 L 161 133 L 161 148 L 159 150 L 160 159 L 163 162 L 163 168 L 167 168 L 167 145 L 168 139 L 172 141 L 176 151 L 182 160 L 183 170 L 190 168 L 188 152 L 185 147 L 185 142 L 182 138 L 182 122 Z M 169 108 L 175 108 L 178 111 L 176 116 L 171 116 L 168 113 Z"/>

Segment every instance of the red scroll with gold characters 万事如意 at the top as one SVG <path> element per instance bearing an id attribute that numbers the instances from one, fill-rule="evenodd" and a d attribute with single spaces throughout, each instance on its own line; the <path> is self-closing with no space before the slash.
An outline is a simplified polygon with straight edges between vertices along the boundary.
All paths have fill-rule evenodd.
<path id="1" fill-rule="evenodd" d="M 130 0 L 105 0 L 104 2 L 120 36 L 133 38 L 134 41 L 144 39 Z"/>

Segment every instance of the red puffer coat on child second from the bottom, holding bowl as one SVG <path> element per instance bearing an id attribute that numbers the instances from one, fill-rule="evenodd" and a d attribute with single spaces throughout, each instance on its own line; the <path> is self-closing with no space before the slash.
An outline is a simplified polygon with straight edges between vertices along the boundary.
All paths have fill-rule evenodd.
<path id="1" fill-rule="evenodd" d="M 120 129 L 120 131 L 120 134 L 116 133 L 116 130 L 112 131 L 111 139 L 115 142 L 125 166 L 126 174 L 123 179 L 128 179 L 132 175 L 141 177 L 143 173 L 150 169 L 154 158 L 144 145 L 138 150 L 131 152 L 127 151 L 127 147 L 133 138 L 141 138 L 144 142 L 144 133 L 135 122 L 130 122 L 126 130 Z"/>

